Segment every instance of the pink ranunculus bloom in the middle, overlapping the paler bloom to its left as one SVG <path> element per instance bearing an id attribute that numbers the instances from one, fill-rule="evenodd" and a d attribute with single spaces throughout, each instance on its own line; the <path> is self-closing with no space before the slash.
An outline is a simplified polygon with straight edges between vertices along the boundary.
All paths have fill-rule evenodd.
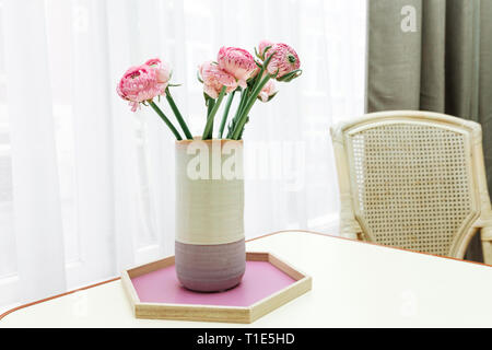
<path id="1" fill-rule="evenodd" d="M 216 61 L 219 68 L 237 79 L 243 89 L 247 88 L 246 80 L 251 77 L 257 67 L 251 54 L 237 47 L 221 47 Z"/>

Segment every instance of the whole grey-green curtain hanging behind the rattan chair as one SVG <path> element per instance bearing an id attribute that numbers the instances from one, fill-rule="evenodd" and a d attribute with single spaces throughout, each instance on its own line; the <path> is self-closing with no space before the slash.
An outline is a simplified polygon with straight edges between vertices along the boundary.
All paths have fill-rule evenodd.
<path id="1" fill-rule="evenodd" d="M 492 0 L 368 0 L 367 11 L 366 110 L 480 122 L 492 189 Z M 467 258 L 482 259 L 478 236 Z"/>

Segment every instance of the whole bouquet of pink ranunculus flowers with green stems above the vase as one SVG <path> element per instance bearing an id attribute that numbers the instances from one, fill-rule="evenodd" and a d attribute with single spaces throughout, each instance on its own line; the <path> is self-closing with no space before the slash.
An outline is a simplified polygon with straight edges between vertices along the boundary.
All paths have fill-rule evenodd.
<path id="1" fill-rule="evenodd" d="M 301 75 L 301 61 L 295 50 L 286 44 L 273 44 L 268 40 L 259 43 L 255 48 L 257 59 L 248 51 L 236 47 L 222 47 L 216 61 L 203 62 L 198 68 L 198 80 L 203 84 L 203 96 L 207 105 L 207 122 L 201 139 L 212 139 L 215 115 L 225 95 L 227 96 L 218 130 L 218 139 L 241 140 L 244 127 L 249 120 L 249 112 L 257 100 L 269 102 L 277 94 L 273 80 L 290 82 Z M 176 106 L 169 88 L 172 70 L 166 62 L 159 58 L 150 59 L 144 65 L 131 67 L 118 83 L 118 95 L 128 101 L 131 110 L 136 112 L 140 105 L 151 106 L 164 120 L 177 140 L 183 140 L 179 131 L 157 106 L 154 98 L 160 101 L 165 96 L 185 137 L 192 140 L 179 108 Z M 230 120 L 229 113 L 236 93 L 241 96 L 234 117 Z"/>

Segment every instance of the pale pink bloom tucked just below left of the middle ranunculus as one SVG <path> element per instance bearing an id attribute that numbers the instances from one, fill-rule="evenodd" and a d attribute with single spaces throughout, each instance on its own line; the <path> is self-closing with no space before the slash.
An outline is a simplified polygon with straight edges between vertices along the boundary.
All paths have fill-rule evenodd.
<path id="1" fill-rule="evenodd" d="M 212 98 L 219 97 L 222 86 L 225 86 L 225 92 L 233 92 L 237 88 L 237 81 L 234 75 L 219 68 L 212 61 L 203 62 L 198 67 L 198 72 L 203 81 L 203 91 Z"/>

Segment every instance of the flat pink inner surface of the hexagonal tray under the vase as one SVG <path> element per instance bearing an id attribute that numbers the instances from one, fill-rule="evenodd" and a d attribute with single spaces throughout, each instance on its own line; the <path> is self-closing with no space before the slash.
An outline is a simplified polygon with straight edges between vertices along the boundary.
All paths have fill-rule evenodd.
<path id="1" fill-rule="evenodd" d="M 183 288 L 169 266 L 131 279 L 143 303 L 250 306 L 295 282 L 267 261 L 246 261 L 239 285 L 220 293 L 199 293 Z"/>

